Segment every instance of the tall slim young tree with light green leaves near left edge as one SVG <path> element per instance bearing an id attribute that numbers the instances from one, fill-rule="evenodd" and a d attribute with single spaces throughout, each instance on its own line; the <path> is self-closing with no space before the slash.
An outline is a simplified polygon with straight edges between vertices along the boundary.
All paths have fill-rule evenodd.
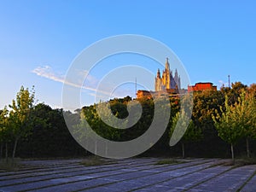
<path id="1" fill-rule="evenodd" d="M 21 86 L 20 91 L 16 95 L 16 100 L 13 100 L 9 108 L 12 110 L 9 113 L 10 126 L 12 136 L 14 137 L 14 149 L 12 158 L 15 158 L 17 144 L 22 137 L 27 137 L 32 131 L 31 111 L 33 108 L 35 92 L 24 89 Z"/>

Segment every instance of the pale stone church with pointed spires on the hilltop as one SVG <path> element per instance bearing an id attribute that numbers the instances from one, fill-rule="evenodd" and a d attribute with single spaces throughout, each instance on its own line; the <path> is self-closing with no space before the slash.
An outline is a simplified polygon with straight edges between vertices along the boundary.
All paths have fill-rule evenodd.
<path id="1" fill-rule="evenodd" d="M 154 90 L 181 90 L 180 76 L 177 73 L 177 69 L 174 76 L 172 75 L 168 58 L 166 58 L 166 68 L 163 70 L 162 77 L 160 75 L 160 69 L 157 70 L 154 81 Z"/>

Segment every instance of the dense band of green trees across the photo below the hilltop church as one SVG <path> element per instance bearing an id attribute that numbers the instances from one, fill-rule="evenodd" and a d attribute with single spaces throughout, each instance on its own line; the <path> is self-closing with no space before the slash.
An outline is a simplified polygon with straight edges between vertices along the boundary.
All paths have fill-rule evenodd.
<path id="1" fill-rule="evenodd" d="M 182 139 L 170 147 L 169 141 L 177 119 L 187 119 L 180 108 L 183 98 L 171 97 L 171 117 L 164 135 L 143 155 L 232 157 L 256 153 L 256 84 L 249 87 L 241 82 L 221 90 L 196 91 L 193 95 L 192 117 Z M 108 101 L 113 115 L 119 119 L 129 113 L 130 96 Z M 67 129 L 63 113 L 73 124 L 73 134 L 80 139 L 90 137 L 83 132 L 85 120 L 96 133 L 113 141 L 129 141 L 140 137 L 154 117 L 154 100 L 140 99 L 143 113 L 129 129 L 115 129 L 96 112 L 102 103 L 77 109 L 75 113 L 53 109 L 44 103 L 35 104 L 34 89 L 20 88 L 9 108 L 0 110 L 1 158 L 81 156 L 90 154 L 74 140 Z M 105 113 L 104 111 L 102 113 Z M 107 112 L 106 112 L 107 113 Z M 130 114 L 136 116 L 136 112 Z M 190 117 L 189 117 L 190 118 Z M 187 119 L 188 120 L 188 119 Z M 129 122 L 127 122 L 129 123 Z"/>

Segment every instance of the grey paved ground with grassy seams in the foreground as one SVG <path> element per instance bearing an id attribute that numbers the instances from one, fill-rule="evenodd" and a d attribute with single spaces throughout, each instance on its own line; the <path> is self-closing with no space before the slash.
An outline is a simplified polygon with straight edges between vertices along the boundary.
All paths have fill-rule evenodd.
<path id="1" fill-rule="evenodd" d="M 0 172 L 0 191 L 256 191 L 256 166 L 223 166 L 193 159 L 156 166 L 159 159 L 116 160 L 82 166 L 81 160 L 33 160 L 19 172 Z"/>

